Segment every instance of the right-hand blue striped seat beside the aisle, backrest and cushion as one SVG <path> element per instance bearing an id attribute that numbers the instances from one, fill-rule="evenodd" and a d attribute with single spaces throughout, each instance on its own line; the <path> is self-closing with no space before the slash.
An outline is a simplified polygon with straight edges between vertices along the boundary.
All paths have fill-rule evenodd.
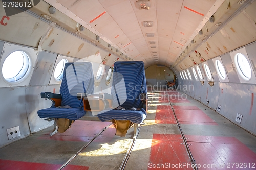
<path id="1" fill-rule="evenodd" d="M 99 112 L 99 119 L 142 123 L 146 118 L 147 110 L 147 106 L 142 108 L 143 103 L 140 99 L 142 93 L 147 93 L 144 63 L 142 61 L 115 62 L 111 89 L 113 107 Z"/>

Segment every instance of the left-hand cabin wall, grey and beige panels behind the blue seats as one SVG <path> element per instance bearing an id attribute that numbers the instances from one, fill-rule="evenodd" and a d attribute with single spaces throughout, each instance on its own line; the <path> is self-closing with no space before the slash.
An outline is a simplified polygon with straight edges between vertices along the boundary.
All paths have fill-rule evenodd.
<path id="1" fill-rule="evenodd" d="M 41 3 L 45 2 L 41 1 Z M 45 5 L 47 3 L 42 6 Z M 46 9 L 48 10 L 48 8 L 49 5 Z M 0 18 L 4 15 L 4 9 L 0 6 Z M 66 21 L 69 23 L 66 29 L 76 26 L 76 22 L 70 18 L 58 19 L 58 22 Z M 102 39 L 96 41 L 96 35 L 88 30 L 82 33 L 83 37 L 94 39 L 95 42 L 79 38 L 59 26 L 53 26 L 50 34 L 41 44 L 42 51 L 38 51 L 41 37 L 44 37 L 44 34 L 51 28 L 49 23 L 28 12 L 10 16 L 10 19 L 5 20 L 5 22 L 7 25 L 0 25 L 0 51 L 2 52 L 5 44 L 20 49 L 28 48 L 31 51 L 29 57 L 33 58 L 33 65 L 30 76 L 18 84 L 8 84 L 7 81 L 3 80 L 3 76 L 0 78 L 0 94 L 2 96 L 0 99 L 0 107 L 2 108 L 0 111 L 0 147 L 53 125 L 53 122 L 39 118 L 37 111 L 49 108 L 52 104 L 49 100 L 41 99 L 40 92 L 59 93 L 61 82 L 55 81 L 53 75 L 57 63 L 62 58 L 66 58 L 69 62 L 91 62 L 94 76 L 97 74 L 98 66 L 102 64 L 102 61 L 106 61 L 103 64 L 103 71 L 105 72 L 101 76 L 101 82 L 98 87 L 95 86 L 96 93 L 110 93 L 109 87 L 111 87 L 112 79 L 109 85 L 106 85 L 105 82 L 109 67 L 113 66 L 115 61 L 129 59 L 122 53 L 116 52 L 116 48 L 108 47 L 108 43 Z M 4 62 L 3 55 L 5 54 L 1 53 L 0 56 L 0 63 L 2 64 Z M 2 65 L 0 67 L 0 74 L 2 75 Z M 21 136 L 9 140 L 7 129 L 16 126 L 19 126 Z"/>

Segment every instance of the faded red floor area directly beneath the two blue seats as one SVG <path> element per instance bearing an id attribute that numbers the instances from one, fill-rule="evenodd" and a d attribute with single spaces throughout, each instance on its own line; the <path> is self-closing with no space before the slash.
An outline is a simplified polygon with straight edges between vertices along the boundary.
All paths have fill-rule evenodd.
<path id="1" fill-rule="evenodd" d="M 47 131 L 44 135 L 38 137 L 38 139 L 88 142 L 110 123 L 111 122 L 76 120 L 71 125 L 71 128 L 69 128 L 66 132 L 57 133 L 53 136 L 50 136 L 49 134 L 51 131 Z M 102 133 L 102 135 L 97 137 L 95 142 L 110 142 L 111 139 L 115 136 L 115 133 L 116 129 L 113 125 L 111 125 Z"/>

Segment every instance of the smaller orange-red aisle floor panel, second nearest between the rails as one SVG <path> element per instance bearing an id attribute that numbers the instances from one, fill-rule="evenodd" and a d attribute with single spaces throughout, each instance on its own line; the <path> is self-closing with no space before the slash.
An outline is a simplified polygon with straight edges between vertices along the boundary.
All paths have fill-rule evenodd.
<path id="1" fill-rule="evenodd" d="M 177 124 L 173 110 L 168 105 L 157 106 L 155 123 L 158 124 Z"/>

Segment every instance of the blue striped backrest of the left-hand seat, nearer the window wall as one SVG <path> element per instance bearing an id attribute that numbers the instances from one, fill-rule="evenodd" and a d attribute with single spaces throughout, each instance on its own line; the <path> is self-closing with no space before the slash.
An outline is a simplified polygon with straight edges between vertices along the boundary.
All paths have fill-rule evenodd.
<path id="1" fill-rule="evenodd" d="M 77 100 L 77 93 L 94 93 L 92 63 L 66 63 L 63 71 L 63 79 L 59 90 L 62 96 L 61 106 L 82 107 L 83 102 L 82 100 Z"/>

